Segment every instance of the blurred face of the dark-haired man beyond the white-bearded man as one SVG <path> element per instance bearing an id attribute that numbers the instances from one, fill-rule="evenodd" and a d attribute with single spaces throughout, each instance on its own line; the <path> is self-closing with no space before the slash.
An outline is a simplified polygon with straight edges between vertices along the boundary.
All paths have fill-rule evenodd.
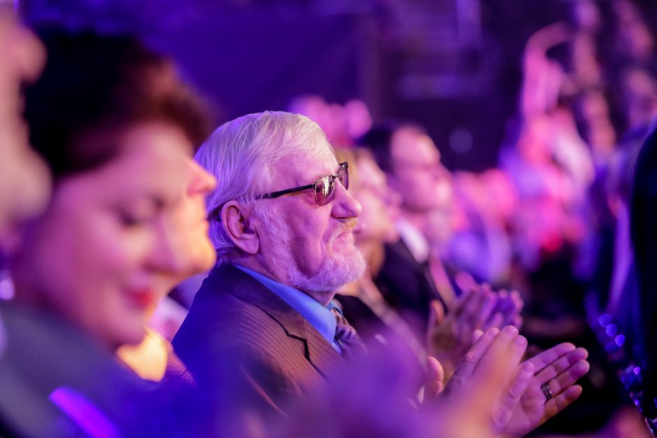
<path id="1" fill-rule="evenodd" d="M 440 205 L 447 170 L 431 138 L 413 128 L 394 133 L 391 144 L 391 187 L 403 197 L 410 212 L 428 212 Z"/>

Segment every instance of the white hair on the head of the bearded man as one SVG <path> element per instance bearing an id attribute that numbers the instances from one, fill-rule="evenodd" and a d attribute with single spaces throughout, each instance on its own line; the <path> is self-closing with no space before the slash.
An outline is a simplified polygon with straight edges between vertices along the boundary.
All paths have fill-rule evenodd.
<path id="1" fill-rule="evenodd" d="M 273 171 L 289 156 L 313 156 L 333 152 L 324 131 L 303 115 L 281 111 L 249 114 L 226 122 L 198 148 L 194 159 L 217 178 L 208 194 L 208 212 L 219 213 L 229 200 L 253 204 L 254 198 L 271 191 Z M 210 240 L 219 262 L 236 249 L 224 231 L 218 214 L 210 217 Z"/>

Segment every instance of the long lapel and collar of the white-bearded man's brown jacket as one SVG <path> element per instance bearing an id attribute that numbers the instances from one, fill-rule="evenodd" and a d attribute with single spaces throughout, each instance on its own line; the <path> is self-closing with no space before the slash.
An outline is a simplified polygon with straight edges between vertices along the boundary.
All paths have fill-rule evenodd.
<path id="1" fill-rule="evenodd" d="M 342 356 L 301 314 L 246 272 L 222 263 L 210 272 L 208 279 L 214 286 L 212 289 L 220 289 L 259 307 L 277 321 L 289 337 L 303 342 L 305 358 L 324 377 L 344 362 Z"/>

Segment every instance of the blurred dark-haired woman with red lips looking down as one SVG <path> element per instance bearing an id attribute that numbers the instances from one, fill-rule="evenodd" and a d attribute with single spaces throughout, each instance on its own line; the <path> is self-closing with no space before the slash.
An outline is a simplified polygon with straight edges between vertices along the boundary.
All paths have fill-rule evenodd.
<path id="1" fill-rule="evenodd" d="M 203 233 L 212 178 L 190 159 L 203 108 L 132 38 L 42 36 L 48 62 L 25 115 L 53 191 L 8 254 L 0 418 L 20 436 L 182 435 L 164 414 L 170 397 L 153 396 L 166 391 L 115 351 L 143 340 L 163 285 L 187 275 L 180 203 L 198 205 Z"/>

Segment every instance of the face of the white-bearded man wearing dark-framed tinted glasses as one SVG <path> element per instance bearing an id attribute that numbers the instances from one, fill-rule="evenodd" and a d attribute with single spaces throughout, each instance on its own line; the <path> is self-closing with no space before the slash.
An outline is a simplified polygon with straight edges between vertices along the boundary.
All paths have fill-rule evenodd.
<path id="1" fill-rule="evenodd" d="M 272 191 L 312 184 L 335 175 L 339 166 L 326 144 L 319 154 L 290 156 L 277 168 Z M 315 203 L 312 190 L 257 202 L 261 265 L 276 272 L 279 281 L 326 304 L 342 284 L 362 275 L 365 262 L 352 232 L 361 205 L 338 180 L 326 205 Z"/>

